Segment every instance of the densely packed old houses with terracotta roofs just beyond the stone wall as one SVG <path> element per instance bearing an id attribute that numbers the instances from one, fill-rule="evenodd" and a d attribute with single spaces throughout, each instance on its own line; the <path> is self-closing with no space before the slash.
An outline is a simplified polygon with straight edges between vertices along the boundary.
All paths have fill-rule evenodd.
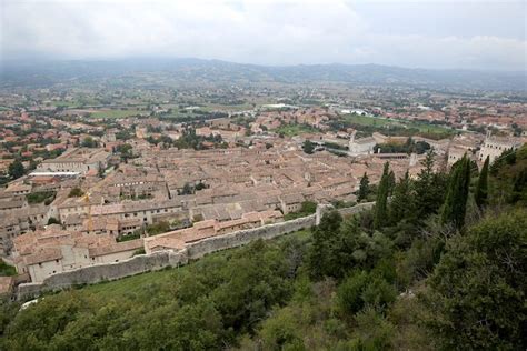
<path id="1" fill-rule="evenodd" d="M 285 116 L 312 126 L 328 118 L 327 113 L 302 111 Z M 257 121 L 261 128 L 272 127 L 274 120 L 269 112 Z M 147 130 L 136 131 L 141 138 L 129 141 L 135 158 L 127 162 L 116 161 L 111 148 L 70 148 L 0 190 L 0 257 L 16 264 L 28 280 L 39 282 L 139 252 L 178 250 L 203 238 L 284 221 L 306 201 L 352 203 L 365 173 L 375 183 L 389 161 L 397 178 L 406 171 L 415 177 L 424 158 L 375 153 L 377 144 L 407 141 L 381 133 L 367 138 L 356 138 L 355 131 L 256 136 L 250 147 L 197 151 L 151 146 L 142 139 Z M 235 141 L 246 129 L 218 119 L 197 133 L 219 133 Z M 301 149 L 306 139 L 336 144 L 346 150 L 345 157 L 326 150 L 307 154 Z M 105 140 L 111 143 L 115 138 Z M 448 164 L 464 154 L 478 162 L 488 156 L 493 161 L 525 142 L 476 133 L 414 140 L 430 144 L 438 163 Z M 31 197 L 42 201 L 29 201 Z M 159 223 L 169 223 L 169 231 L 148 235 L 146 229 Z"/>

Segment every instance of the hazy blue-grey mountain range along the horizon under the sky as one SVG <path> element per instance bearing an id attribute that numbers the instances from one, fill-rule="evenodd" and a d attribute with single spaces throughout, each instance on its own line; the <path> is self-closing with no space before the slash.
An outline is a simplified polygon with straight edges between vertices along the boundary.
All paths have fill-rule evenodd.
<path id="1" fill-rule="evenodd" d="M 527 72 L 408 69 L 379 64 L 301 64 L 267 67 L 201 59 L 4 62 L 1 86 L 49 86 L 151 73 L 172 82 L 349 83 L 434 89 L 527 91 Z"/>

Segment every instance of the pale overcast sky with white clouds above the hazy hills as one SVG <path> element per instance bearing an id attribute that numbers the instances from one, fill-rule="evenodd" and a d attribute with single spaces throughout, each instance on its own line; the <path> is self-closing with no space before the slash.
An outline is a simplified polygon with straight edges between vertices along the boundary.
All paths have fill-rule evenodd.
<path id="1" fill-rule="evenodd" d="M 0 58 L 527 70 L 527 1 L 0 0 Z"/>

